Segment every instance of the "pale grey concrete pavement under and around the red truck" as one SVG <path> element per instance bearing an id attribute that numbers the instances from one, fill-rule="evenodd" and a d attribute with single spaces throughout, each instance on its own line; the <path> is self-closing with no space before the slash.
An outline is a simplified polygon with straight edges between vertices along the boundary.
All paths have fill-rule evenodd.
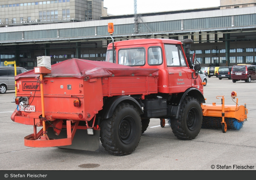
<path id="1" fill-rule="evenodd" d="M 171 127 L 151 119 L 139 146 L 130 155 L 114 156 L 100 145 L 99 152 L 24 146 L 24 137 L 33 126 L 11 120 L 16 108 L 15 91 L 0 94 L 0 170 L 255 170 L 256 169 L 256 81 L 246 83 L 216 77 L 204 87 L 206 104 L 235 105 L 231 92 L 237 92 L 239 105 L 246 103 L 248 118 L 239 131 L 201 129 L 189 141 L 179 140 Z"/>

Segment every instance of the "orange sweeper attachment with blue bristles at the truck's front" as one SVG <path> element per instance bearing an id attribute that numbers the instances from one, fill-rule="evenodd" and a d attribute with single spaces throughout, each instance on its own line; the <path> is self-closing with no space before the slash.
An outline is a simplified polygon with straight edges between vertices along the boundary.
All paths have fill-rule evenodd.
<path id="1" fill-rule="evenodd" d="M 236 105 L 224 104 L 224 96 L 221 97 L 221 105 L 201 105 L 203 112 L 202 129 L 222 129 L 223 133 L 227 130 L 240 130 L 243 128 L 244 122 L 247 120 L 248 110 L 246 104 L 238 105 L 236 92 L 232 91 L 232 100 L 236 99 Z"/>

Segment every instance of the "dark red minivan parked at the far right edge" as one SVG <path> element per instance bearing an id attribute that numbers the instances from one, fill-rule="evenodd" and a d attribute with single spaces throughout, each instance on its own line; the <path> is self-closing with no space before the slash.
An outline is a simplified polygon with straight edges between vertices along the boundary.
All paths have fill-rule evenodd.
<path id="1" fill-rule="evenodd" d="M 231 79 L 233 83 L 240 80 L 248 83 L 256 80 L 256 66 L 251 64 L 237 64 L 232 66 Z"/>

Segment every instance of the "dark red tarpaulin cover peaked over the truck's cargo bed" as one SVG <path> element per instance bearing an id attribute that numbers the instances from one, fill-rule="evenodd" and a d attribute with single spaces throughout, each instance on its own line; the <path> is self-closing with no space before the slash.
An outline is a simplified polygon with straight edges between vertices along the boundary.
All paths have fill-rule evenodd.
<path id="1" fill-rule="evenodd" d="M 80 79 L 91 79 L 96 77 L 114 76 L 158 76 L 158 69 L 141 69 L 136 67 L 124 66 L 105 61 L 93 61 L 72 58 L 53 64 L 50 77 L 72 76 Z M 38 77 L 34 70 L 15 76 L 15 80 L 20 77 Z"/>

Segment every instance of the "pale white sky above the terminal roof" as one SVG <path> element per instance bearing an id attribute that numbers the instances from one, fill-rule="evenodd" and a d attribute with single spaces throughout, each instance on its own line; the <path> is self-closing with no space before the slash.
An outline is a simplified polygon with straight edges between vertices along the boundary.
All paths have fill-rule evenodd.
<path id="1" fill-rule="evenodd" d="M 220 6 L 220 0 L 137 0 L 137 13 L 176 11 Z M 134 0 L 104 0 L 108 14 L 134 13 Z"/>

